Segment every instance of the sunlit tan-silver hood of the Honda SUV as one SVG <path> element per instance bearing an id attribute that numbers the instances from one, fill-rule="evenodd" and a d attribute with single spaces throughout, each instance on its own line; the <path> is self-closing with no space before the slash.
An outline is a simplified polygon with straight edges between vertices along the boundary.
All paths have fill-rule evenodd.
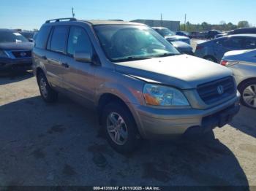
<path id="1" fill-rule="evenodd" d="M 122 74 L 181 89 L 192 89 L 197 85 L 232 75 L 232 71 L 225 66 L 190 55 L 115 64 L 116 71 Z"/>

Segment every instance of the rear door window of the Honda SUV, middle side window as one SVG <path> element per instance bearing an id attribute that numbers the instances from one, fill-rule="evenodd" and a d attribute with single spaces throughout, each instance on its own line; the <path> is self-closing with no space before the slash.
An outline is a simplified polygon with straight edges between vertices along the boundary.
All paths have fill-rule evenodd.
<path id="1" fill-rule="evenodd" d="M 61 53 L 65 52 L 68 29 L 67 26 L 54 27 L 50 42 L 50 50 Z"/>

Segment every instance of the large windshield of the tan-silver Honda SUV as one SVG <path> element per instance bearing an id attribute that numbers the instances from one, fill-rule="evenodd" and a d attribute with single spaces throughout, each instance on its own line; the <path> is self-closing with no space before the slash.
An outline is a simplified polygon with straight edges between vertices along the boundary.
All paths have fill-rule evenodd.
<path id="1" fill-rule="evenodd" d="M 99 42 L 110 61 L 133 61 L 179 52 L 156 31 L 147 26 L 94 26 Z"/>

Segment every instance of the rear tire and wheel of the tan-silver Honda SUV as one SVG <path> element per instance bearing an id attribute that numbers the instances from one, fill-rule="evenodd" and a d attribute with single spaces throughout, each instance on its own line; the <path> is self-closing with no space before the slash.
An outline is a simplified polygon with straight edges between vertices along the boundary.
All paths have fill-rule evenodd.
<path id="1" fill-rule="evenodd" d="M 37 76 L 37 83 L 41 97 L 45 102 L 53 103 L 58 100 L 58 93 L 50 87 L 45 74 L 42 72 L 40 72 Z"/>

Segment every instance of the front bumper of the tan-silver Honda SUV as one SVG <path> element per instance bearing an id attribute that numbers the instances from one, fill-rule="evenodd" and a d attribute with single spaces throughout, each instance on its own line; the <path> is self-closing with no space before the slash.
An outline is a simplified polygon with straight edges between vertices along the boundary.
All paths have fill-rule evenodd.
<path id="1" fill-rule="evenodd" d="M 239 111 L 236 97 L 210 109 L 156 109 L 136 106 L 135 120 L 144 139 L 174 138 L 184 134 L 189 128 L 200 127 L 210 130 L 226 125 Z"/>

